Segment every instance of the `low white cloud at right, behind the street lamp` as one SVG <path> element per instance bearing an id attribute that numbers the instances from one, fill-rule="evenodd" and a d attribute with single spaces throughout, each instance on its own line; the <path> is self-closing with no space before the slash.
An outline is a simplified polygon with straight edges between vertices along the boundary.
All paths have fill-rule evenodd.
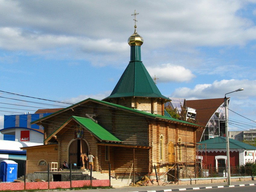
<path id="1" fill-rule="evenodd" d="M 256 80 L 223 79 L 212 84 L 198 84 L 194 88 L 176 88 L 170 97 L 186 98 L 186 100 L 224 98 L 226 93 L 244 88 L 243 91 L 227 94 L 229 102 L 229 130 L 255 129 Z M 223 99 L 224 102 L 224 99 Z M 252 121 L 250 121 L 250 120 Z"/>

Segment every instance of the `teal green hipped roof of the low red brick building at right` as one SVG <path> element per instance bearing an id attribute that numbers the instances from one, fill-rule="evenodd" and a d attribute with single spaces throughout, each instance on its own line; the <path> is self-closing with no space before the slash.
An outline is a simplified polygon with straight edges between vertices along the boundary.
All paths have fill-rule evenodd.
<path id="1" fill-rule="evenodd" d="M 198 142 L 198 144 L 206 144 L 206 149 L 226 149 L 226 138 L 225 137 L 215 137 L 205 141 Z M 205 145 L 199 145 L 201 149 L 205 149 Z M 241 141 L 229 138 L 229 149 L 247 149 L 247 150 L 256 150 L 256 147 L 248 145 Z"/>

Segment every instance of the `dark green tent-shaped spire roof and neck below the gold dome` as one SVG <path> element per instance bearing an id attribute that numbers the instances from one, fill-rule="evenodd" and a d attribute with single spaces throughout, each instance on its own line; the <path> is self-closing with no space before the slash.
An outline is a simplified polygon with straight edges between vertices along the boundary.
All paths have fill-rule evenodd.
<path id="1" fill-rule="evenodd" d="M 149 97 L 170 100 L 161 94 L 140 60 L 140 46 L 131 46 L 131 61 L 107 98 L 120 97 Z"/>

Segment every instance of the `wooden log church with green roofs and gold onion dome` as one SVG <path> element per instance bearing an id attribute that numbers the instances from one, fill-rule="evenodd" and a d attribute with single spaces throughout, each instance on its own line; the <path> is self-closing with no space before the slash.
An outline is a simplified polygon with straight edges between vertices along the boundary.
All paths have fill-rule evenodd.
<path id="1" fill-rule="evenodd" d="M 143 38 L 128 39 L 130 62 L 111 95 L 88 98 L 33 124 L 44 127 L 44 145 L 27 147 L 27 173 L 47 171 L 50 162 L 76 163 L 86 168 L 89 151 L 93 171 L 155 175 L 170 168 L 191 166 L 196 160 L 196 130 L 201 126 L 165 113 L 163 96 L 141 61 Z"/>

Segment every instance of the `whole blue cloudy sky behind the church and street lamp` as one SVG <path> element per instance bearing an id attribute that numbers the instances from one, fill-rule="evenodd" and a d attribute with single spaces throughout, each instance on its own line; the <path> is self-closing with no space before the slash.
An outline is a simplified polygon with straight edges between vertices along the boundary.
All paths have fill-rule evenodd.
<path id="1" fill-rule="evenodd" d="M 224 98 L 244 88 L 227 95 L 229 108 L 247 118 L 229 112 L 236 121 L 229 130 L 255 127 L 253 0 L 0 0 L 0 90 L 72 103 L 109 96 L 130 61 L 135 9 L 142 61 L 163 95 Z M 7 98 L 0 98 L 0 128 L 4 115 L 45 107 Z"/>

